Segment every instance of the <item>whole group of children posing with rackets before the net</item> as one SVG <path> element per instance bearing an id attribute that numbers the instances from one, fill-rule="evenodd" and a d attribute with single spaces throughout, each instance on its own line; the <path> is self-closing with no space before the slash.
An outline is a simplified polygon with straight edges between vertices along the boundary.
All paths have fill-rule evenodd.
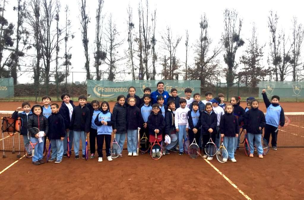
<path id="1" fill-rule="evenodd" d="M 159 82 L 158 84 L 164 84 Z M 264 138 L 269 141 L 272 135 L 272 148 L 276 150 L 278 125 L 284 126 L 284 111 L 278 104 L 279 97 L 273 96 L 271 102 L 268 100 L 265 90 L 263 99 L 267 107 L 266 118 L 264 113 L 258 109 L 258 100 L 247 99 L 247 108 L 240 107 L 240 97 L 232 97 L 229 104 L 225 104 L 224 95 L 219 93 L 213 98 L 211 92 L 206 92 L 206 100 L 201 101 L 199 93 L 192 96 L 190 88 L 185 89 L 185 97 L 178 97 L 177 90 L 171 89 L 171 96 L 164 105 L 164 96 L 157 95 L 157 103 L 151 103 L 151 89 L 146 87 L 142 98 L 138 97 L 135 87 L 129 88 L 127 97 L 119 95 L 117 102 L 110 112 L 109 103 L 98 100 L 87 102 L 84 95 L 78 97 L 79 105 L 75 106 L 70 100 L 70 95 L 64 93 L 61 96 L 62 104 L 51 104 L 51 98 L 42 98 L 43 106 L 34 105 L 30 108 L 29 102 L 23 102 L 23 112 L 19 113 L 21 107 L 13 113 L 12 117 L 21 117 L 24 145 L 29 140 L 36 143 L 38 135 L 34 134 L 33 127 L 44 131 L 50 140 L 52 154 L 49 162 L 60 163 L 62 157 L 67 157 L 67 136 L 69 136 L 70 146 L 74 142 L 75 159 L 79 159 L 79 143 L 82 142 L 82 158 L 85 158 L 85 140 L 89 133 L 90 138 L 90 158 L 95 158 L 95 142 L 97 141 L 98 162 L 102 162 L 102 147 L 105 141 L 106 158 L 112 161 L 110 146 L 112 132 L 116 134 L 122 157 L 123 144 L 127 136 L 128 156 L 137 156 L 138 131 L 140 138 L 144 134 L 149 135 L 148 139 L 152 144 L 155 139 L 164 142 L 168 135 L 171 143 L 167 144 L 163 154 L 170 154 L 170 151 L 184 154 L 183 143 L 189 137 L 190 143 L 197 141 L 203 152 L 203 157 L 212 160 L 212 156 L 207 156 L 204 147 L 212 138 L 216 146 L 220 146 L 220 138 L 223 137 L 223 144 L 228 151 L 228 158 L 236 162 L 234 158 L 236 150 L 239 148 L 240 128 L 247 133 L 250 146 L 250 157 L 253 157 L 254 142 L 257 147 L 259 158 L 263 158 L 261 146 L 262 129 L 265 128 Z M 29 131 L 29 139 L 28 139 Z M 157 138 L 155 138 L 155 135 Z M 43 164 L 43 142 L 35 146 L 33 164 Z M 28 152 L 31 155 L 32 152 Z M 153 152 L 152 157 L 160 157 L 160 152 Z"/>

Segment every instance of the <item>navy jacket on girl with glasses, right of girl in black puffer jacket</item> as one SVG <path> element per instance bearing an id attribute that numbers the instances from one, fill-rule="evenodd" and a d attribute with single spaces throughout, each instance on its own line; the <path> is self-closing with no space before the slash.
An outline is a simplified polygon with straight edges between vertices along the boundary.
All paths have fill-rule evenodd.
<path id="1" fill-rule="evenodd" d="M 143 118 L 137 106 L 127 107 L 127 130 L 137 130 L 143 126 Z"/>

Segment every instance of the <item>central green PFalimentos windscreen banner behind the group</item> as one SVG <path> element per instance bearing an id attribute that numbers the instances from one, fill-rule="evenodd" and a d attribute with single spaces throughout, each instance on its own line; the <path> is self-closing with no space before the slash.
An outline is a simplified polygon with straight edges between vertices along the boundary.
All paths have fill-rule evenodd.
<path id="1" fill-rule="evenodd" d="M 157 90 L 156 84 L 159 80 L 131 80 L 131 81 L 108 81 L 108 80 L 88 80 L 88 98 L 93 99 L 116 99 L 118 95 L 128 94 L 130 86 L 135 87 L 136 95 L 143 96 L 143 89 L 150 87 L 152 92 Z M 200 93 L 199 80 L 162 80 L 164 82 L 164 90 L 170 93 L 172 88 L 176 88 L 178 95 L 184 97 L 184 91 L 187 87 L 192 89 L 193 93 Z"/>

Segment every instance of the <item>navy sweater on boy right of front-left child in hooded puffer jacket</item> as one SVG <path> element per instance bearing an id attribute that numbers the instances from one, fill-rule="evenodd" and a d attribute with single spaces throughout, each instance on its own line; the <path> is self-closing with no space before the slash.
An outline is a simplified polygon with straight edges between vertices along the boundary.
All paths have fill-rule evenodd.
<path id="1" fill-rule="evenodd" d="M 47 118 L 49 123 L 49 132 L 47 137 L 51 140 L 59 140 L 60 137 L 65 137 L 64 119 L 59 113 L 52 113 Z"/>

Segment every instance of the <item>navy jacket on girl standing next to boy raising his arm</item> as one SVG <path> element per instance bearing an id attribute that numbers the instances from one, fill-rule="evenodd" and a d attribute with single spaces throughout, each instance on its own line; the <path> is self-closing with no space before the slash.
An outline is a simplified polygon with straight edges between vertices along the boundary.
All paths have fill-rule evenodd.
<path id="1" fill-rule="evenodd" d="M 245 114 L 244 127 L 247 133 L 261 134 L 259 127 L 264 128 L 266 124 L 264 113 L 258 108 L 251 108 Z"/>

